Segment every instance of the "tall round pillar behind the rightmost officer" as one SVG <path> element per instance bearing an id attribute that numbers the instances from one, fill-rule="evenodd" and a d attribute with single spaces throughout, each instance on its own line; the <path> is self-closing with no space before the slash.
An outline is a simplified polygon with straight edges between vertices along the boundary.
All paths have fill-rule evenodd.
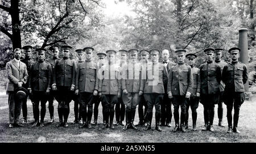
<path id="1" fill-rule="evenodd" d="M 239 29 L 238 47 L 241 49 L 241 52 L 240 52 L 240 58 L 238 59 L 238 61 L 240 61 L 242 63 L 245 63 L 246 65 L 249 62 L 247 33 L 248 33 L 247 28 Z M 248 74 L 249 74 L 249 72 L 248 72 Z M 250 94 L 248 93 L 249 92 L 249 82 L 248 82 L 248 80 L 245 84 L 245 92 L 246 92 L 246 95 L 247 95 L 247 99 L 249 99 L 248 95 L 250 95 Z"/>

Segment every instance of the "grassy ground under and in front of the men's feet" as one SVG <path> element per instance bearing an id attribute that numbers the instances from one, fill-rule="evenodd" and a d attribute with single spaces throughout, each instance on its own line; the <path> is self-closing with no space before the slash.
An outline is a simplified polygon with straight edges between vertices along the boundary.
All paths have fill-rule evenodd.
<path id="1" fill-rule="evenodd" d="M 71 102 L 71 113 L 69 114 L 69 127 L 55 127 L 59 122 L 57 115 L 57 102 L 55 105 L 55 122 L 48 124 L 49 112 L 47 109 L 45 123 L 43 128 L 32 128 L 33 114 L 31 101 L 28 101 L 28 124 L 21 128 L 9 129 L 8 125 L 8 103 L 7 97 L 0 97 L 0 142 L 141 142 L 141 143 L 169 143 L 169 142 L 256 142 L 256 97 L 253 96 L 251 101 L 245 101 L 240 111 L 240 121 L 238 127 L 241 134 L 227 134 L 226 130 L 226 106 L 224 105 L 224 125 L 226 127 L 218 127 L 217 105 L 215 107 L 214 132 L 204 132 L 201 128 L 204 125 L 203 105 L 199 105 L 197 109 L 197 128 L 198 131 L 192 131 L 191 110 L 189 110 L 189 129 L 186 133 L 172 132 L 174 129 L 174 117 L 172 117 L 171 128 L 162 127 L 162 132 L 155 130 L 155 117 L 153 116 L 152 130 L 144 131 L 143 127 L 138 130 L 122 131 L 122 126 L 115 126 L 114 130 L 101 129 L 102 126 L 102 108 L 100 105 L 98 122 L 100 124 L 93 126 L 92 129 L 79 129 L 79 125 L 72 124 L 74 119 L 73 101 Z M 22 115 L 20 116 L 22 121 Z M 138 123 L 138 110 L 135 116 L 135 123 Z"/>

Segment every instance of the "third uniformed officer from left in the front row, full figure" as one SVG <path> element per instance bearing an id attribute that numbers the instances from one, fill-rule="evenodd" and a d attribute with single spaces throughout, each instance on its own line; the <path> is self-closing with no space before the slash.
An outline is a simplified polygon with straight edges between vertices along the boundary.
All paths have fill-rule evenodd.
<path id="1" fill-rule="evenodd" d="M 85 62 L 79 63 L 77 66 L 76 75 L 76 92 L 80 93 L 81 113 L 82 113 L 82 126 L 92 128 L 90 121 L 93 114 L 93 96 L 98 95 L 98 65 L 92 62 L 93 48 L 84 48 L 86 60 Z M 88 111 L 87 111 L 88 107 Z"/>

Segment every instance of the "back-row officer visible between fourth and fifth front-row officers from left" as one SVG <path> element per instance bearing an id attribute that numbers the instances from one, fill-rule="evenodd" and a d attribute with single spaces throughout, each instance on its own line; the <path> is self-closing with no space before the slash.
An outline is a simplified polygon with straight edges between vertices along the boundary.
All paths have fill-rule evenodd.
<path id="1" fill-rule="evenodd" d="M 127 50 L 118 50 L 119 56 L 120 56 L 120 61 L 119 61 L 119 66 L 122 68 L 123 66 L 127 66 L 126 60 L 127 60 Z M 122 72 L 121 72 L 122 75 Z M 121 108 L 120 108 L 121 105 Z M 119 124 L 121 126 L 125 126 L 125 104 L 123 104 L 122 100 L 122 93 L 121 97 L 118 98 L 117 104 L 115 104 L 115 119 L 117 122 L 115 122 L 115 126 L 118 126 Z"/>

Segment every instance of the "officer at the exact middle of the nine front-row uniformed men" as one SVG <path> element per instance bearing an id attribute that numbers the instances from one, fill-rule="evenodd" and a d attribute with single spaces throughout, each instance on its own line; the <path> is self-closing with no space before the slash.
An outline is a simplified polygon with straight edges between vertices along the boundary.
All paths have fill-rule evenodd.
<path id="1" fill-rule="evenodd" d="M 138 50 L 130 49 L 129 62 L 122 67 L 122 100 L 126 106 L 126 125 L 123 130 L 129 127 L 137 130 L 134 126 L 134 117 L 136 113 L 136 106 L 139 103 L 139 95 L 143 94 L 144 82 L 141 82 L 141 65 L 137 63 Z"/>

